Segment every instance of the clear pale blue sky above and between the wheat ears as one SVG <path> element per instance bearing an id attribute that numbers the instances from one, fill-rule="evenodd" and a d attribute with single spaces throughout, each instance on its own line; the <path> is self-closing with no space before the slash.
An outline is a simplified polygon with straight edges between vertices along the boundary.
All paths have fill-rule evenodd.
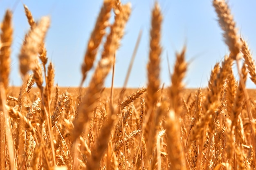
<path id="1" fill-rule="evenodd" d="M 24 35 L 29 29 L 23 3 L 29 7 L 35 20 L 44 15 L 51 17 L 46 48 L 49 60 L 54 63 L 56 69 L 55 82 L 59 86 L 79 86 L 81 63 L 102 2 L 103 0 L 0 0 L 0 20 L 2 20 L 6 9 L 14 9 L 10 85 L 19 86 L 22 83 L 19 74 L 18 53 Z M 124 84 L 132 51 L 139 30 L 142 29 L 141 43 L 128 82 L 128 87 L 138 88 L 145 86 L 147 82 L 146 64 L 149 51 L 150 11 L 155 0 L 122 0 L 122 2 L 131 2 L 132 13 L 126 26 L 126 34 L 117 52 L 115 87 L 122 87 Z M 173 70 L 175 52 L 180 51 L 186 44 L 186 60 L 190 61 L 184 81 L 186 87 L 207 86 L 211 68 L 228 53 L 228 48 L 222 41 L 222 30 L 218 25 L 211 0 L 159 0 L 159 4 L 164 16 L 162 23 L 162 83 L 170 84 L 167 53 L 171 70 Z M 249 47 L 254 52 L 256 48 L 256 23 L 254 22 L 256 1 L 232 0 L 229 1 L 229 7 L 234 14 L 239 33 L 245 40 L 248 40 Z M 99 60 L 99 56 L 97 60 Z M 236 77 L 238 77 L 237 74 Z M 88 78 L 85 86 L 90 81 L 90 77 Z M 110 84 L 109 76 L 106 86 L 110 86 Z M 255 88 L 255 85 L 251 81 L 247 81 L 247 87 Z"/>

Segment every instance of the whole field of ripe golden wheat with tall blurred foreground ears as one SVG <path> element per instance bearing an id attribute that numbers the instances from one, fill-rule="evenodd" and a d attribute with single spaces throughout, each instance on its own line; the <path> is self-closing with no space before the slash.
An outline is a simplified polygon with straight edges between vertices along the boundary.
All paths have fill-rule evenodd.
<path id="1" fill-rule="evenodd" d="M 30 30 L 18 56 L 24 81 L 19 93 L 10 93 L 13 28 L 7 10 L 0 32 L 0 170 L 255 169 L 256 101 L 245 89 L 247 73 L 256 84 L 255 63 L 225 0 L 213 0 L 213 6 L 230 53 L 215 64 L 206 89 L 182 95 L 185 47 L 175 55 L 171 86 L 160 87 L 162 13 L 155 3 L 147 88 L 128 95 L 124 87 L 116 97 L 113 88 L 103 93 L 104 81 L 115 66 L 129 3 L 103 1 L 81 67 L 78 95 L 60 94 L 54 84 L 54 66 L 47 62 L 44 45 L 49 18 L 35 22 L 25 5 Z M 101 59 L 90 84 L 82 88 L 101 43 Z M 39 90 L 31 94 L 34 84 Z"/>

